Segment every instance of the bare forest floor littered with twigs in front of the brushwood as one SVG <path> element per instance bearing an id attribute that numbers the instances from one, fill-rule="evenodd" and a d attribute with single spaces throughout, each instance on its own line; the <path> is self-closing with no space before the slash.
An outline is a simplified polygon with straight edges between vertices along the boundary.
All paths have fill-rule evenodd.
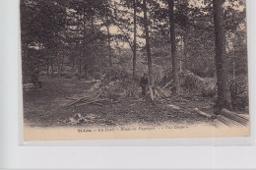
<path id="1" fill-rule="evenodd" d="M 118 103 L 108 103 L 102 106 L 87 104 L 70 106 L 69 98 L 92 96 L 90 90 L 94 84 L 85 80 L 58 79 L 40 77 L 42 89 L 24 91 L 25 125 L 32 127 L 55 126 L 121 126 L 129 124 L 160 125 L 185 124 L 215 125 L 212 120 L 193 111 L 199 108 L 212 113 L 213 101 L 197 96 L 190 98 L 170 97 L 169 101 L 157 100 L 155 104 L 149 98 L 135 100 L 132 97 L 122 98 Z M 70 123 L 70 118 L 76 114 L 87 118 L 87 122 Z"/>

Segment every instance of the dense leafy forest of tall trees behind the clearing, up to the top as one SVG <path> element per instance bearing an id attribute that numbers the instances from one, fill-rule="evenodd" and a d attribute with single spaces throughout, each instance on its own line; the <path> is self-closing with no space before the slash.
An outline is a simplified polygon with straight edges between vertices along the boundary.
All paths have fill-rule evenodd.
<path id="1" fill-rule="evenodd" d="M 21 0 L 23 75 L 36 69 L 48 77 L 102 79 L 119 67 L 134 78 L 149 73 L 155 85 L 171 72 L 177 94 L 182 71 L 219 82 L 247 77 L 245 5 L 244 0 Z M 221 69 L 219 61 L 226 63 Z M 222 68 L 227 78 L 218 76 Z"/>

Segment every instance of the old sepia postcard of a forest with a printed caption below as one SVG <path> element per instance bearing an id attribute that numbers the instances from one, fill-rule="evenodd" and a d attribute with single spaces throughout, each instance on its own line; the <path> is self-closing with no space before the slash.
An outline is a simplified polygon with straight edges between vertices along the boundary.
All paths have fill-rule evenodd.
<path id="1" fill-rule="evenodd" d="M 24 142 L 250 136 L 245 0 L 20 0 Z"/>

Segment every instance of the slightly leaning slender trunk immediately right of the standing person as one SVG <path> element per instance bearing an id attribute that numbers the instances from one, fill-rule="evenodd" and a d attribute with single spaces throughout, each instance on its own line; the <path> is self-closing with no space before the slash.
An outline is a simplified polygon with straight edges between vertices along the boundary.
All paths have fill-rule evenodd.
<path id="1" fill-rule="evenodd" d="M 146 48 L 147 48 L 149 77 L 150 77 L 150 92 L 151 92 L 151 99 L 154 101 L 154 94 L 152 90 L 152 86 L 154 85 L 154 77 L 153 77 L 151 45 L 150 45 L 150 35 L 149 35 L 150 34 L 149 21 L 147 17 L 147 0 L 143 0 L 143 12 L 144 12 L 144 28 L 145 28 L 145 34 L 146 34 Z"/>

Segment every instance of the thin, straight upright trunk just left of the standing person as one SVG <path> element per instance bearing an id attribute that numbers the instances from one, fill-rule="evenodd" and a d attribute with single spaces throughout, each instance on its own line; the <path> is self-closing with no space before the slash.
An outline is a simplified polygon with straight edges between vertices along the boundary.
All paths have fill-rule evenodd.
<path id="1" fill-rule="evenodd" d="M 136 76 L 136 34 L 137 34 L 137 0 L 133 0 L 133 25 L 134 25 L 134 39 L 133 39 L 133 78 Z"/>

